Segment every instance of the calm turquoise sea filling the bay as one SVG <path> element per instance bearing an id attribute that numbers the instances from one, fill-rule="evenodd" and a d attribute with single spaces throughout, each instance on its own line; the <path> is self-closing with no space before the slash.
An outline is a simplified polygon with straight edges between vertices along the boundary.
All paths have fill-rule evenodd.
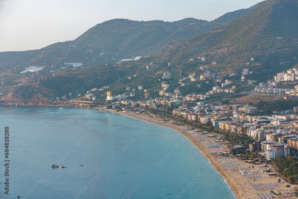
<path id="1" fill-rule="evenodd" d="M 145 121 L 94 109 L 0 107 L 0 132 L 0 198 L 234 198 L 193 144 Z"/>

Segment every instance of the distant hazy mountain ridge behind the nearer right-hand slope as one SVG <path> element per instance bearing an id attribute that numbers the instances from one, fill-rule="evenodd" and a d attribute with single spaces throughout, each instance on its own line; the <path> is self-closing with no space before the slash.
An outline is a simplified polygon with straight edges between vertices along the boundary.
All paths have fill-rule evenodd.
<path id="1" fill-rule="evenodd" d="M 63 62 L 82 62 L 90 67 L 106 63 L 114 64 L 113 56 L 117 58 L 116 61 L 119 61 L 132 56 L 156 55 L 167 50 L 165 48 L 167 45 L 177 46 L 215 27 L 228 24 L 235 18 L 250 12 L 254 7 L 227 13 L 212 22 L 194 18 L 174 22 L 113 19 L 97 24 L 74 41 L 58 42 L 40 50 L 22 51 L 17 54 L 2 52 L 0 61 L 4 61 L 2 65 L 7 69 L 15 66 L 24 68 L 30 65 L 52 65 L 53 60 L 64 58 L 63 52 L 71 50 L 72 52 L 63 59 Z M 76 43 L 76 41 L 81 42 Z M 86 54 L 87 50 L 93 50 L 96 53 L 89 58 L 90 54 Z M 105 56 L 100 57 L 100 52 L 105 52 Z M 87 60 L 86 57 L 88 57 Z M 19 70 L 12 72 L 18 73 Z"/>

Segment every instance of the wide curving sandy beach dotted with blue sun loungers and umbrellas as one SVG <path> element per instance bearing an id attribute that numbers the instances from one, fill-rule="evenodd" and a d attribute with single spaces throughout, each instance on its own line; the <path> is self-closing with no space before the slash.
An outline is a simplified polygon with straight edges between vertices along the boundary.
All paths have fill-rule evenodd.
<path id="1" fill-rule="evenodd" d="M 114 112 L 112 110 L 109 111 Z M 218 155 L 219 152 L 223 152 L 226 149 L 226 146 L 222 145 L 220 142 L 216 142 L 216 138 L 218 137 L 216 134 L 213 134 L 215 135 L 214 138 L 210 138 L 204 134 L 194 132 L 193 130 L 187 130 L 186 126 L 171 124 L 170 121 L 164 123 L 164 121 L 160 121 L 160 118 L 155 118 L 144 113 L 119 112 L 119 114 L 158 124 L 180 132 L 198 148 L 215 171 L 224 178 L 231 191 L 234 193 L 235 198 L 271 198 L 275 195 L 270 191 L 274 191 L 276 194 L 284 194 L 288 192 L 291 193 L 294 188 L 294 185 L 291 185 L 291 188 L 286 188 L 285 185 L 288 184 L 287 182 L 277 183 L 277 180 L 280 178 L 279 176 L 272 177 L 269 176 L 268 173 L 261 171 L 262 169 L 271 169 L 272 172 L 275 172 L 274 168 L 271 166 L 263 168 L 262 165 L 246 163 L 245 161 L 238 160 L 238 158 Z M 289 198 L 289 196 L 286 198 Z M 291 198 L 295 197 L 291 196 Z"/>

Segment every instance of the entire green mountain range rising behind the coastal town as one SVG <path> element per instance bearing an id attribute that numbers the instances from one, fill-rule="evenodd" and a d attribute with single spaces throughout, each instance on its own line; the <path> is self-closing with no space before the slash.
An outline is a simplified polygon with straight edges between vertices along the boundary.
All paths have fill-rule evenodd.
<path id="1" fill-rule="evenodd" d="M 174 77 L 190 73 L 199 75 L 198 66 L 211 64 L 214 60 L 219 63 L 216 69 L 224 74 L 250 67 L 256 72 L 255 78 L 264 78 L 258 73 L 267 72 L 268 77 L 290 67 L 281 66 L 280 62 L 297 62 L 297 10 L 297 1 L 268 0 L 248 9 L 227 13 L 211 22 L 194 18 L 175 22 L 114 19 L 97 24 L 75 41 L 60 42 L 28 52 L 0 53 L 3 61 L 0 64 L 2 71 L 6 67 L 13 74 L 19 74 L 29 65 L 54 64 L 58 68 L 64 65 L 63 62 L 82 62 L 85 67 L 91 67 L 87 70 L 60 72 L 55 77 L 35 80 L 25 86 L 27 90 L 35 91 L 30 98 L 35 96 L 48 100 L 78 90 L 84 94 L 92 87 L 100 88 L 104 85 L 110 85 L 116 94 L 123 92 L 127 85 L 142 84 L 154 90 L 158 88 L 156 79 L 161 78 L 162 71 L 172 70 Z M 98 66 L 114 64 L 132 56 L 148 57 L 122 66 Z M 204 63 L 188 63 L 190 59 L 198 60 L 198 57 L 203 56 L 207 59 Z M 247 65 L 251 57 L 254 57 L 255 62 Z M 156 67 L 144 70 L 150 62 Z M 168 66 L 169 62 L 171 66 Z M 46 67 L 44 75 L 49 75 L 49 70 L 51 68 Z M 84 86 L 83 80 L 92 78 L 94 74 L 98 78 Z M 139 76 L 128 81 L 127 77 L 134 74 Z M 82 86 L 83 90 L 78 89 Z M 205 89 L 208 86 L 192 91 L 203 93 Z M 26 97 L 19 95 L 20 92 L 12 91 L 3 99 L 24 101 Z M 98 97 L 104 95 L 103 92 L 95 94 Z"/>

